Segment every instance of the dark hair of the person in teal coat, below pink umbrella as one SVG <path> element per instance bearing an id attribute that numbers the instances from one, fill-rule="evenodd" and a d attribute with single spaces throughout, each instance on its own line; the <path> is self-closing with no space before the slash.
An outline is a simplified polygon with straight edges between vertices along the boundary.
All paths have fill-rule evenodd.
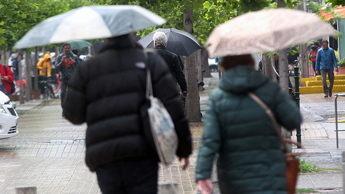
<path id="1" fill-rule="evenodd" d="M 221 62 L 221 66 L 224 70 L 236 67 L 238 65 L 249 65 L 254 67 L 254 59 L 251 54 L 224 56 Z"/>

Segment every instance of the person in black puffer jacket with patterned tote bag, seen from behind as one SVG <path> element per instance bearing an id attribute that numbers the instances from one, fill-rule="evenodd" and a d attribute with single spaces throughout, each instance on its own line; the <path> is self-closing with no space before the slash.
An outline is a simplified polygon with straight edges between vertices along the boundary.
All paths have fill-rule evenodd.
<path id="1" fill-rule="evenodd" d="M 63 110 L 71 123 L 87 123 L 86 165 L 96 172 L 103 194 L 157 193 L 158 159 L 144 136 L 140 115 L 146 65 L 153 94 L 173 119 L 176 155 L 185 159 L 183 169 L 188 165 L 189 125 L 168 66 L 155 52 L 148 52 L 146 60 L 132 35 L 109 38 L 97 56 L 77 66 Z"/>

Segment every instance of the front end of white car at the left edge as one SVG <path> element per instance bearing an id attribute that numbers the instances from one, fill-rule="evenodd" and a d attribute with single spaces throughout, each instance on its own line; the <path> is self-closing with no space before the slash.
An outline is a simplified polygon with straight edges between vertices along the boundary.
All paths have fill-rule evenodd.
<path id="1" fill-rule="evenodd" d="M 10 102 L 10 98 L 0 91 L 0 139 L 18 135 L 18 114 Z"/>

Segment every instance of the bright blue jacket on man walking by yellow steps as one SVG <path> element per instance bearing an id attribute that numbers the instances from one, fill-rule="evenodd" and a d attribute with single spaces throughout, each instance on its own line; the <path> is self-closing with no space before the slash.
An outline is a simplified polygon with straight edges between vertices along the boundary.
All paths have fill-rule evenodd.
<path id="1" fill-rule="evenodd" d="M 324 49 L 321 47 L 317 51 L 315 71 L 320 70 L 333 70 L 334 67 L 338 67 L 337 57 L 332 48 Z"/>

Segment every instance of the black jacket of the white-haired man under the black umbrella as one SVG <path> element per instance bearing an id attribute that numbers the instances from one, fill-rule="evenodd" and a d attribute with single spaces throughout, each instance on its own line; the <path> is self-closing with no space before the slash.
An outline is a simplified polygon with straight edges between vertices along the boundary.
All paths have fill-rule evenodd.
<path id="1" fill-rule="evenodd" d="M 163 45 L 155 46 L 154 50 L 160 56 L 162 56 L 165 62 L 167 62 L 167 64 L 169 65 L 170 71 L 173 73 L 173 76 L 177 81 L 178 85 L 180 85 L 181 91 L 187 91 L 187 82 L 185 74 L 182 71 L 182 67 L 178 56 L 175 53 L 168 51 L 167 48 Z"/>

